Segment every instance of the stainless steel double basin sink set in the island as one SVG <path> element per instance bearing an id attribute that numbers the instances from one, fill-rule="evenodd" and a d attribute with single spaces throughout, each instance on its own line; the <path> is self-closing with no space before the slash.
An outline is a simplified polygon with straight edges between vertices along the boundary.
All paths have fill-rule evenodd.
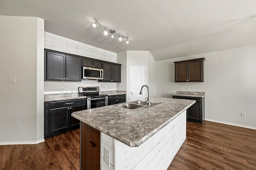
<path id="1" fill-rule="evenodd" d="M 117 104 L 114 106 L 121 107 L 124 109 L 129 109 L 132 111 L 140 111 L 142 109 L 146 109 L 148 107 L 152 107 L 152 106 L 155 106 L 158 104 L 160 104 L 160 103 L 151 101 L 150 106 L 148 106 L 148 103 L 146 103 L 146 101 L 138 100 L 138 101 L 131 101 L 131 102 L 127 102 L 127 103 L 121 103 L 121 104 Z"/>

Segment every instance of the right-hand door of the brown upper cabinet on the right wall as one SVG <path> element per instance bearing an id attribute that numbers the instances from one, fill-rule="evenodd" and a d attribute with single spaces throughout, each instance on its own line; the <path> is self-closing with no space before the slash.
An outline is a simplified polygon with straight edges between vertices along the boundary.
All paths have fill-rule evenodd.
<path id="1" fill-rule="evenodd" d="M 202 60 L 188 62 L 188 80 L 191 81 L 204 81 L 202 72 Z"/>

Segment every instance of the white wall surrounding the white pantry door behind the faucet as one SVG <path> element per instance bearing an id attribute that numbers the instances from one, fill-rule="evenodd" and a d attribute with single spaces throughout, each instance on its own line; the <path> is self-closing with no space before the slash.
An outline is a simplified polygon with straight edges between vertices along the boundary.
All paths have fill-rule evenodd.
<path id="1" fill-rule="evenodd" d="M 126 101 L 130 101 L 130 65 L 146 65 L 145 83 L 150 87 L 150 97 L 156 96 L 156 61 L 149 51 L 124 51 L 117 54 L 117 61 L 122 64 L 122 71 L 126 72 L 126 74 L 122 73 L 122 83 L 117 87 L 118 90 L 126 90 Z"/>

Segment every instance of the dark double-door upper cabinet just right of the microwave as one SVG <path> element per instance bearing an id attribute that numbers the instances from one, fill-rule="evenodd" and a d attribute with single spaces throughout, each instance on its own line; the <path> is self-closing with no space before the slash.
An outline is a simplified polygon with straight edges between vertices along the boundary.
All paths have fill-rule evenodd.
<path id="1" fill-rule="evenodd" d="M 105 82 L 121 82 L 121 64 L 103 62 L 103 80 Z"/>

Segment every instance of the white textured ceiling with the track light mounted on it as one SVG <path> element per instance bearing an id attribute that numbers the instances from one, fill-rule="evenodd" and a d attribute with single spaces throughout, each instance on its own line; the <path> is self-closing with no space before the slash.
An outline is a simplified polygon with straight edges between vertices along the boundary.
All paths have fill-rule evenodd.
<path id="1" fill-rule="evenodd" d="M 0 0 L 0 15 L 39 17 L 46 32 L 156 61 L 256 44 L 256 0 Z M 130 43 L 104 36 L 93 17 Z"/>

